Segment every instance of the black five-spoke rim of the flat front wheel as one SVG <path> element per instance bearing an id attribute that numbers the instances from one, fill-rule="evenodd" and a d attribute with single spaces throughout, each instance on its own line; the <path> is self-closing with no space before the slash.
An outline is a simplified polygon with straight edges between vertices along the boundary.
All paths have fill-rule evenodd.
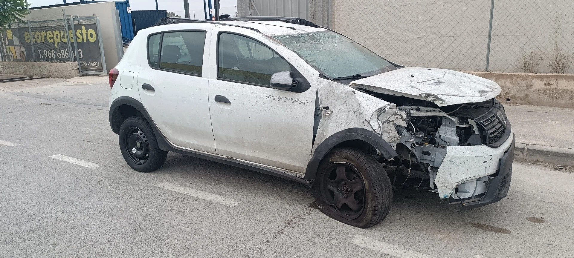
<path id="1" fill-rule="evenodd" d="M 364 183 L 360 174 L 350 163 L 331 163 L 325 168 L 321 184 L 321 196 L 340 216 L 353 220 L 363 213 Z"/>

